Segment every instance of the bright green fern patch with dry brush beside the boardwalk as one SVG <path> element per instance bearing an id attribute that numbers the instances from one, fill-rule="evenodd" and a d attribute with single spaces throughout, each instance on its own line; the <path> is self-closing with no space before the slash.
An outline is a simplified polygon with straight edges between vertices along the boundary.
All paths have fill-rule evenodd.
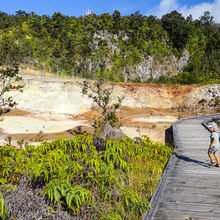
<path id="1" fill-rule="evenodd" d="M 172 149 L 132 140 L 77 135 L 38 147 L 0 147 L 2 219 L 137 219 Z"/>

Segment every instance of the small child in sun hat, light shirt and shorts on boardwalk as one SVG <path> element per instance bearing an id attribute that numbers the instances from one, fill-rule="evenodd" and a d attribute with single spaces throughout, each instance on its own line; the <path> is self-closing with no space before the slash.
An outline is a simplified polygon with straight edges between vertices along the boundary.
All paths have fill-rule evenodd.
<path id="1" fill-rule="evenodd" d="M 219 134 L 218 132 L 216 132 L 216 129 L 215 129 L 215 126 L 211 123 L 208 125 L 208 128 L 209 128 L 209 131 L 211 132 L 211 135 L 210 135 L 210 145 L 209 145 L 209 149 L 208 149 L 208 155 L 209 155 L 209 158 L 211 160 L 209 166 L 212 166 L 214 165 L 214 160 L 213 160 L 213 155 L 216 159 L 216 166 L 217 167 L 220 167 L 220 163 L 219 163 L 219 157 L 217 155 L 217 152 L 220 148 L 220 145 L 219 145 Z"/>

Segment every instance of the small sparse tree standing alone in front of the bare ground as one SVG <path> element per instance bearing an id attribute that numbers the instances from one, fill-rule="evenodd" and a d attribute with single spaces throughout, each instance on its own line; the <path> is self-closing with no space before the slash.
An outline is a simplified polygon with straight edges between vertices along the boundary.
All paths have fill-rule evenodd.
<path id="1" fill-rule="evenodd" d="M 94 84 L 85 80 L 81 86 L 82 94 L 87 95 L 93 100 L 93 103 L 97 104 L 102 110 L 102 116 L 99 118 L 98 123 L 95 122 L 95 128 L 102 128 L 106 123 L 111 124 L 112 127 L 117 126 L 119 118 L 116 115 L 116 109 L 121 107 L 125 95 L 117 97 L 117 102 L 111 105 L 113 102 L 112 92 L 114 86 L 111 86 L 111 88 L 105 88 L 103 80 L 95 81 Z"/>

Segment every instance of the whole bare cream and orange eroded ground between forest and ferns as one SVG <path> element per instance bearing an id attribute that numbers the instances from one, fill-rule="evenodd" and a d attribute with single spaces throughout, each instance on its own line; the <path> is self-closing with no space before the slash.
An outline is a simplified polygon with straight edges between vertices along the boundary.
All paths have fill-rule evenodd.
<path id="1" fill-rule="evenodd" d="M 17 110 L 4 115 L 0 122 L 1 143 L 9 135 L 15 143 L 21 137 L 32 137 L 28 141 L 34 142 L 39 133 L 43 134 L 41 140 L 70 137 L 76 126 L 92 131 L 92 121 L 99 112 L 82 96 L 79 80 L 36 75 L 23 75 L 23 79 L 23 93 L 10 94 L 18 102 Z M 164 142 L 165 130 L 173 121 L 216 112 L 220 86 L 115 83 L 113 97 L 123 94 L 126 96 L 118 112 L 123 132 Z"/>

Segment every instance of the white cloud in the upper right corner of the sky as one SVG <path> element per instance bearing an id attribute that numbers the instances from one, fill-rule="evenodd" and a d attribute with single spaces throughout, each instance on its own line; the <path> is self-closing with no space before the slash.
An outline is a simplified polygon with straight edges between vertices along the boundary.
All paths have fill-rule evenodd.
<path id="1" fill-rule="evenodd" d="M 154 10 L 149 11 L 149 13 L 161 17 L 173 10 L 179 11 L 185 17 L 191 14 L 193 19 L 197 19 L 202 16 L 205 11 L 209 11 L 211 15 L 214 16 L 215 22 L 220 23 L 220 0 L 214 0 L 212 3 L 204 1 L 192 6 L 188 4 L 180 6 L 178 0 L 161 0 L 160 4 L 154 8 Z"/>

